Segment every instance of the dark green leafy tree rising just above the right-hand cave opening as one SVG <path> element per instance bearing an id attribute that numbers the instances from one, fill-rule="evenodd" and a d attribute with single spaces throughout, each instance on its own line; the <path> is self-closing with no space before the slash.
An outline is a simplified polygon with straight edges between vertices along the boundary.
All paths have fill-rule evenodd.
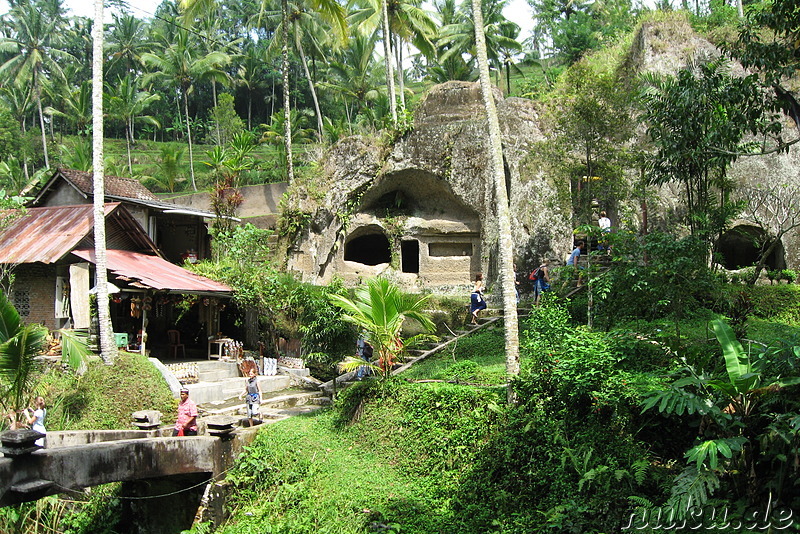
<path id="1" fill-rule="evenodd" d="M 677 76 L 649 75 L 642 97 L 642 118 L 656 147 L 650 181 L 684 188 L 689 228 L 709 244 L 736 211 L 726 176 L 740 154 L 752 152 L 744 136 L 780 131 L 779 121 L 764 115 L 755 75 L 733 77 L 728 67 L 720 58 Z"/>

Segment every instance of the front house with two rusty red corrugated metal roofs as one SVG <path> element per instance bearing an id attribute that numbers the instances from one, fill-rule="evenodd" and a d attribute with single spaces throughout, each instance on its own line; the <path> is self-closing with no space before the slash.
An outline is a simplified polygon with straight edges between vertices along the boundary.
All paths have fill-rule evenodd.
<path id="1" fill-rule="evenodd" d="M 89 328 L 93 209 L 90 204 L 29 208 L 0 230 L 0 264 L 13 274 L 10 298 L 26 322 Z M 231 289 L 164 259 L 122 203 L 105 204 L 104 211 L 114 331 L 129 340 L 149 334 L 154 348 L 165 349 L 167 331 L 183 330 L 205 350 L 208 337 L 219 330 L 219 311 Z"/>

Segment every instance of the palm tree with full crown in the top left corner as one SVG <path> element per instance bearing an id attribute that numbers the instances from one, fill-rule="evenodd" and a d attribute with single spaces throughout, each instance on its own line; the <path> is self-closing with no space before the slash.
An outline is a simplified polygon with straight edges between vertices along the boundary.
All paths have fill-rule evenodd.
<path id="1" fill-rule="evenodd" d="M 15 85 L 30 85 L 39 113 L 39 128 L 42 132 L 45 167 L 50 167 L 47 152 L 47 136 L 42 108 L 42 85 L 45 73 L 64 79 L 59 61 L 74 61 L 70 54 L 55 47 L 58 28 L 63 19 L 50 17 L 33 2 L 20 2 L 10 12 L 8 19 L 12 35 L 0 39 L 0 53 L 12 57 L 0 65 L 0 76 L 8 76 Z"/>

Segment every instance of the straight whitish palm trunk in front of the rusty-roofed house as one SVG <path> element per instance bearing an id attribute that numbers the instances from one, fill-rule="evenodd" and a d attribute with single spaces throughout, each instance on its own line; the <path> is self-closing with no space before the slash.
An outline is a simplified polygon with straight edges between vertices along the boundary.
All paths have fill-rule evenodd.
<path id="1" fill-rule="evenodd" d="M 92 168 L 94 171 L 94 255 L 100 357 L 112 364 L 117 354 L 108 306 L 106 262 L 105 177 L 103 173 L 103 0 L 94 0 L 92 27 Z"/>

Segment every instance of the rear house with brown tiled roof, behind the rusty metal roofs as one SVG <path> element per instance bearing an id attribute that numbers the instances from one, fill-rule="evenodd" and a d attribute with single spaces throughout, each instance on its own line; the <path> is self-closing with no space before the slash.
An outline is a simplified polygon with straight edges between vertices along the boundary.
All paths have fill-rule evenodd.
<path id="1" fill-rule="evenodd" d="M 92 204 L 93 198 L 92 173 L 57 169 L 28 205 L 74 206 Z M 138 180 L 120 176 L 105 177 L 105 202 L 123 204 L 165 259 L 177 263 L 190 256 L 211 257 L 207 221 L 213 213 L 162 202 Z"/>

